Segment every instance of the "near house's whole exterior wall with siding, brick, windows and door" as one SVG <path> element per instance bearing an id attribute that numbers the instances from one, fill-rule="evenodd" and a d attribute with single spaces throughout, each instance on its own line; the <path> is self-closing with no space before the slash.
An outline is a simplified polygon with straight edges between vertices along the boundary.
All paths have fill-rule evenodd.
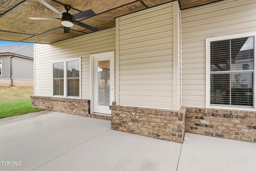
<path id="1" fill-rule="evenodd" d="M 255 38 L 255 0 L 121 16 L 115 28 L 35 44 L 32 106 L 176 142 L 189 132 L 255 143 Z"/>

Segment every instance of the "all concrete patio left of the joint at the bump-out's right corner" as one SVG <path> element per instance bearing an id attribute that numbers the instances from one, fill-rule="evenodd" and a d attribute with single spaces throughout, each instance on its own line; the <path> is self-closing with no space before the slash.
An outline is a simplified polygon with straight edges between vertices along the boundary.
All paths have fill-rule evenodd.
<path id="1" fill-rule="evenodd" d="M 53 111 L 1 119 L 0 132 L 0 161 L 10 161 L 0 163 L 4 171 L 176 170 L 182 145 Z"/>

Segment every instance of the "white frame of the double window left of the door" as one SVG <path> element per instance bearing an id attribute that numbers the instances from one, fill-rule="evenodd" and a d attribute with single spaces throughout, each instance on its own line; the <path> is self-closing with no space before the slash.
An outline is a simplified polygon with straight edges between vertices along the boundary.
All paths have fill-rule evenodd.
<path id="1" fill-rule="evenodd" d="M 68 82 L 67 82 L 67 62 L 68 61 L 73 61 L 73 60 L 79 60 L 79 97 L 76 96 L 68 96 Z M 53 82 L 53 64 L 58 63 L 58 62 L 64 62 L 64 95 L 54 95 L 54 82 Z M 71 58 L 71 59 L 66 59 L 66 60 L 60 60 L 60 61 L 54 61 L 52 62 L 52 96 L 53 97 L 65 97 L 65 98 L 72 98 L 72 99 L 81 99 L 81 57 L 79 58 Z"/>

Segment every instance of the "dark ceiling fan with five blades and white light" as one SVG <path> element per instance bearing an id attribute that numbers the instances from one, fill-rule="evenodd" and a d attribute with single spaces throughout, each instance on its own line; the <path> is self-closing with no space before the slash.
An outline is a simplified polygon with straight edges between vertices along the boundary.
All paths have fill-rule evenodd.
<path id="1" fill-rule="evenodd" d="M 77 21 L 77 19 L 80 19 L 80 18 L 85 18 L 85 17 L 96 15 L 92 9 L 78 12 L 78 13 L 72 15 L 72 14 L 68 13 L 68 11 L 71 8 L 70 5 L 64 5 L 64 8 L 67 12 L 61 13 L 58 10 L 56 10 L 53 6 L 51 6 L 50 4 L 45 2 L 44 0 L 37 0 L 37 1 L 40 2 L 41 4 L 43 4 L 44 6 L 46 6 L 47 8 L 49 8 L 50 10 L 52 10 L 53 12 L 55 12 L 56 14 L 58 14 L 59 16 L 61 16 L 61 18 L 28 17 L 31 20 L 61 20 L 61 24 L 62 24 L 62 26 L 64 26 L 64 33 L 70 33 L 70 27 L 72 27 L 74 24 L 84 27 L 84 28 L 87 28 L 89 30 L 92 30 L 93 32 L 98 31 L 98 28 L 95 28 L 88 24 L 84 24 L 80 21 Z"/>

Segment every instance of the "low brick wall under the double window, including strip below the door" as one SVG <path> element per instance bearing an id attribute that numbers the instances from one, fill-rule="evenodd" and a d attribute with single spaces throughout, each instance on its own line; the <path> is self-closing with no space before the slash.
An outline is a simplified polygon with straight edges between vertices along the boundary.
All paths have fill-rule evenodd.
<path id="1" fill-rule="evenodd" d="M 90 114 L 90 100 L 62 97 L 30 96 L 31 106 L 40 109 L 82 115 L 97 119 L 110 120 L 107 115 Z"/>

